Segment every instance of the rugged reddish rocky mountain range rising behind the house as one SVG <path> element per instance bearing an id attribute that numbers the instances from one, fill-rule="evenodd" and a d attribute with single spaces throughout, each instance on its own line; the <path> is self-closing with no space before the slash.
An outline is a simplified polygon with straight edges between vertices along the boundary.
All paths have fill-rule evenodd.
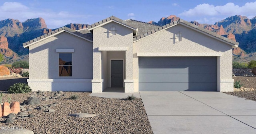
<path id="1" fill-rule="evenodd" d="M 148 23 L 165 25 L 180 19 L 175 15 L 161 18 L 158 22 Z M 248 62 L 256 58 L 256 17 L 248 19 L 246 16 L 231 16 L 215 24 L 200 24 L 192 21 L 199 27 L 205 28 L 231 40 L 239 42 L 239 47 L 233 49 L 234 60 Z M 88 24 L 67 24 L 73 30 L 87 28 Z M 22 43 L 38 36 L 51 32 L 43 18 L 28 19 L 20 22 L 15 19 L 0 21 L 0 53 L 4 54 L 4 63 L 15 60 L 28 60 L 28 49 Z M 255 59 L 254 59 L 255 60 Z"/>

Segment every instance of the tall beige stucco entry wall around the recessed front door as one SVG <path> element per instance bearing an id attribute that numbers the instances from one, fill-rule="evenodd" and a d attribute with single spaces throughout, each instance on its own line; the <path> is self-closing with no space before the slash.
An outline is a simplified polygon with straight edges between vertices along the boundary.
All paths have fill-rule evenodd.
<path id="1" fill-rule="evenodd" d="M 116 28 L 116 35 L 109 36 L 108 30 L 110 27 Z M 111 57 L 119 59 L 125 58 L 126 63 L 132 63 L 132 42 L 133 42 L 133 30 L 118 24 L 116 22 L 110 22 L 103 26 L 93 29 L 93 80 L 92 80 L 92 92 L 102 92 L 104 88 L 109 87 L 109 59 Z M 104 51 L 99 51 L 99 47 L 112 47 L 112 50 L 108 50 L 108 58 L 103 58 L 105 56 Z M 115 52 L 120 48 L 128 48 L 125 52 Z M 119 53 L 122 53 L 118 56 Z M 117 54 L 117 55 L 113 55 Z M 104 55 L 104 56 L 103 56 Z M 107 62 L 105 61 L 107 60 Z M 102 67 L 102 64 L 107 64 L 108 70 Z M 106 66 L 106 65 L 103 65 Z M 132 64 L 125 64 L 125 79 L 132 79 L 133 72 L 131 69 Z M 103 72 L 102 72 L 103 71 Z M 107 71 L 107 78 L 105 72 Z M 104 76 L 102 76 L 104 74 Z M 106 86 L 107 84 L 107 86 Z M 103 86 L 102 86 L 103 85 Z"/>

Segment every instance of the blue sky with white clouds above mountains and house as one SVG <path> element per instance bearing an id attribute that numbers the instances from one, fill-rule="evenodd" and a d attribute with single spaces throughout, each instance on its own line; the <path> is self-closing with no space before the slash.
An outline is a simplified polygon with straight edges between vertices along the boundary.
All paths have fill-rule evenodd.
<path id="1" fill-rule="evenodd" d="M 214 24 L 229 16 L 256 16 L 256 0 L 1 0 L 0 20 L 44 18 L 48 28 L 93 24 L 116 16 L 158 22 L 176 15 L 186 21 Z"/>

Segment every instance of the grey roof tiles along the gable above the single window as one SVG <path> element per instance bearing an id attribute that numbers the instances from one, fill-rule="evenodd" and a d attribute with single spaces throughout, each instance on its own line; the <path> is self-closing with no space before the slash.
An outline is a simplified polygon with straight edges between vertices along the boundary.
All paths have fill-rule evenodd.
<path id="1" fill-rule="evenodd" d="M 72 32 L 73 34 L 76 34 L 76 35 L 78 35 L 78 36 L 80 36 L 80 37 L 83 37 L 83 38 L 86 38 L 86 39 L 92 41 L 92 36 L 90 36 L 90 34 L 83 34 L 83 33 L 81 33 L 81 32 L 72 30 L 72 29 L 67 28 L 67 27 L 64 26 L 64 27 L 55 29 L 55 30 L 52 31 L 52 32 L 48 32 L 47 34 L 44 34 L 44 35 L 39 36 L 39 37 L 37 37 L 37 38 L 34 38 L 34 39 L 30 40 L 30 41 L 24 42 L 22 45 L 23 45 L 23 46 L 27 46 L 28 44 L 31 44 L 31 43 L 33 43 L 33 42 L 36 42 L 36 41 L 41 40 L 41 39 L 43 39 L 43 38 L 46 38 L 46 37 L 48 37 L 48 36 L 50 36 L 50 35 L 52 35 L 52 34 L 56 34 L 56 33 L 60 32 L 60 31 L 62 31 L 62 30 L 66 30 L 66 31 L 68 31 L 68 32 Z"/>

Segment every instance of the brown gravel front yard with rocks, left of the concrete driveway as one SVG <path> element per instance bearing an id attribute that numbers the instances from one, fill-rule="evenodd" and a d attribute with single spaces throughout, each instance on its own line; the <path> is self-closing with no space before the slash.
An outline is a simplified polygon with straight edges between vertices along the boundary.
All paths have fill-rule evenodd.
<path id="1" fill-rule="evenodd" d="M 55 112 L 44 112 L 33 109 L 28 114 L 33 118 L 15 119 L 11 124 L 5 124 L 5 118 L 0 118 L 0 126 L 22 126 L 35 134 L 153 134 L 142 100 L 109 99 L 88 96 L 88 92 L 64 92 L 61 99 L 42 100 L 38 106 L 57 103 L 51 107 Z M 3 101 L 8 97 L 12 101 L 22 103 L 32 93 L 4 94 Z M 44 93 L 52 95 L 50 92 Z M 77 100 L 70 96 L 78 95 Z M 33 106 L 26 106 L 26 108 Z M 36 106 L 34 106 L 35 108 Z M 72 113 L 86 112 L 97 114 L 90 118 L 69 116 Z"/>

